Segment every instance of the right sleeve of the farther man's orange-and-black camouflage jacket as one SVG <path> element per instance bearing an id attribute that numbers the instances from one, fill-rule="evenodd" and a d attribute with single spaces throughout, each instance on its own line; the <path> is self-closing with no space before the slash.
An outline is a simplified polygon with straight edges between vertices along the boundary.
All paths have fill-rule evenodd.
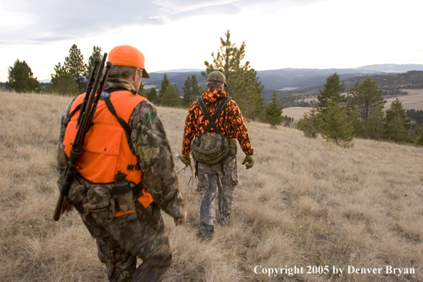
<path id="1" fill-rule="evenodd" d="M 241 114 L 241 110 L 239 110 L 239 107 L 234 100 L 230 100 L 228 102 L 226 110 L 228 111 L 227 116 L 231 122 L 231 127 L 234 130 L 235 137 L 238 140 L 239 145 L 241 145 L 242 151 L 245 155 L 253 155 L 254 149 L 251 147 L 250 135 L 246 128 L 246 123 Z"/>

